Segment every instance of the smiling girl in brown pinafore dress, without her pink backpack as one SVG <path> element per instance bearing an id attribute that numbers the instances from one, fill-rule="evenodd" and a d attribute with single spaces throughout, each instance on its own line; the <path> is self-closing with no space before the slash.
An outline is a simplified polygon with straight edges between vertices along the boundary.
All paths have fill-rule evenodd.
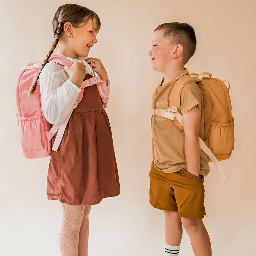
<path id="1" fill-rule="evenodd" d="M 96 71 L 107 85 L 108 74 L 99 59 L 87 58 L 98 41 L 98 15 L 76 4 L 59 7 L 52 21 L 55 41 L 43 62 L 39 78 L 42 108 L 51 124 L 62 122 L 72 110 L 83 80 Z M 56 46 L 57 53 L 53 53 Z M 72 67 L 48 62 L 60 54 Z M 84 59 L 84 58 L 82 58 Z M 77 60 L 77 61 L 76 61 Z M 40 75 L 40 76 L 39 76 Z M 30 93 L 35 90 L 37 81 Z M 109 92 L 109 86 L 108 92 Z M 52 139 L 54 143 L 55 136 Z M 52 150 L 47 175 L 47 199 L 58 199 L 63 208 L 60 252 L 63 256 L 87 255 L 92 204 L 119 195 L 119 178 L 108 116 L 97 85 L 84 88 L 81 102 L 73 110 L 57 152 Z"/>

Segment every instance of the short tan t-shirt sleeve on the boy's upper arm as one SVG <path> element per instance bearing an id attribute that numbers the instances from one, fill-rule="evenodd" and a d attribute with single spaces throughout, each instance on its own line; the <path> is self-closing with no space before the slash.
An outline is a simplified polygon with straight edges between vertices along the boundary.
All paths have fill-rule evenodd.
<path id="1" fill-rule="evenodd" d="M 188 110 L 196 105 L 201 110 L 203 104 L 203 95 L 196 83 L 186 84 L 180 96 L 181 115 L 183 116 Z"/>

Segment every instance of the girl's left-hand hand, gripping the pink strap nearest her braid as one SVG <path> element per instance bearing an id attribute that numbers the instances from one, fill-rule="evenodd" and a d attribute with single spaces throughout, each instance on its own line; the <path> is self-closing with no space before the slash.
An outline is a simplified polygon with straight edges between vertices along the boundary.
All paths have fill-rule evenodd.
<path id="1" fill-rule="evenodd" d="M 69 80 L 80 88 L 86 74 L 84 63 L 74 60 L 74 64 L 71 67 L 65 66 L 64 69 L 69 75 Z"/>

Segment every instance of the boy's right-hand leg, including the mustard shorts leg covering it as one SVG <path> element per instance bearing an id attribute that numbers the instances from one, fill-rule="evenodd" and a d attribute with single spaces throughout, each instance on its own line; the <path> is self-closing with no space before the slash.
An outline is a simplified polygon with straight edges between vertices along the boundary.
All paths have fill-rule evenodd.
<path id="1" fill-rule="evenodd" d="M 204 227 L 204 177 L 186 170 L 168 174 L 174 189 L 181 222 L 196 256 L 211 256 L 211 242 Z"/>

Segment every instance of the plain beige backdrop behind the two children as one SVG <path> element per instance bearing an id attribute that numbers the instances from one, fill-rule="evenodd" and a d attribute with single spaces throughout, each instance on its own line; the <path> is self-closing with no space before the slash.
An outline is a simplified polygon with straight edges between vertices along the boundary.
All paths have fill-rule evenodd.
<path id="1" fill-rule="evenodd" d="M 90 214 L 89 256 L 164 255 L 164 217 L 148 203 L 151 163 L 151 94 L 162 74 L 151 71 L 150 37 L 164 22 L 188 22 L 197 49 L 186 67 L 209 71 L 231 84 L 235 150 L 221 163 L 229 182 L 211 165 L 205 179 L 205 226 L 215 256 L 255 256 L 255 1 L 74 1 L 94 10 L 102 27 L 90 52 L 111 80 L 108 104 L 121 194 Z M 49 158 L 22 155 L 16 121 L 15 81 L 23 65 L 43 61 L 52 18 L 61 0 L 0 2 L 1 255 L 59 254 L 58 201 L 46 200 Z M 180 256 L 193 255 L 184 232 Z"/>

